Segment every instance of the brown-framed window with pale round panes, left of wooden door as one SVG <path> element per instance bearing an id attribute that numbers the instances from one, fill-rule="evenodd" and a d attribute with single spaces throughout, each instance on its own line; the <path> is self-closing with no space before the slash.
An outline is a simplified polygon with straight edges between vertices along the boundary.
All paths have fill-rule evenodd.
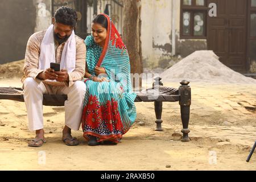
<path id="1" fill-rule="evenodd" d="M 205 0 L 181 0 L 180 38 L 206 39 L 207 3 Z"/>

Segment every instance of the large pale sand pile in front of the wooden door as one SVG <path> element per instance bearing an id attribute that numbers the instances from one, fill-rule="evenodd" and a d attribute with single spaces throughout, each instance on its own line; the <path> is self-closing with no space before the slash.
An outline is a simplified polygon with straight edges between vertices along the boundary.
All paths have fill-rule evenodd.
<path id="1" fill-rule="evenodd" d="M 256 84 L 256 80 L 226 67 L 213 51 L 196 51 L 164 71 L 163 81 Z"/>

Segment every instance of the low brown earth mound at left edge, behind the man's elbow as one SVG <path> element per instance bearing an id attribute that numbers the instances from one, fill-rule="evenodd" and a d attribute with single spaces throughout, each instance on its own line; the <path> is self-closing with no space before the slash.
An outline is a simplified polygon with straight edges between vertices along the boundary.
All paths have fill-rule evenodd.
<path id="1" fill-rule="evenodd" d="M 24 60 L 13 61 L 11 63 L 0 64 L 0 79 L 1 78 L 22 78 Z"/>

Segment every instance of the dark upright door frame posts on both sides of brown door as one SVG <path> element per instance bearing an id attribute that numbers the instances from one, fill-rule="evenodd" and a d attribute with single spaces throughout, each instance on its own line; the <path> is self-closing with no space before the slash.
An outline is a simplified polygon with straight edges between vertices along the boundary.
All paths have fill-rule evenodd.
<path id="1" fill-rule="evenodd" d="M 250 2 L 251 2 L 251 0 L 243 0 L 243 1 L 245 1 L 245 3 L 247 3 L 247 5 L 246 5 L 246 12 L 247 12 L 247 15 L 246 15 L 246 18 L 247 18 L 247 21 L 246 21 L 246 26 L 245 26 L 245 28 L 246 28 L 246 57 L 245 57 L 245 61 L 246 61 L 246 63 L 245 63 L 245 72 L 249 72 L 249 70 L 250 70 L 250 60 L 249 60 L 249 55 L 250 55 L 250 48 L 249 48 L 249 39 L 250 39 Z M 209 6 L 209 3 L 210 3 L 210 0 L 209 1 L 207 1 L 207 5 Z M 217 6 L 217 11 L 218 11 L 218 6 Z M 208 9 L 208 11 L 207 11 L 207 14 L 209 13 L 209 9 Z M 208 15 L 207 16 L 207 49 L 209 50 L 209 44 L 208 44 L 208 40 L 209 40 L 209 28 L 210 28 L 210 24 L 209 24 L 209 22 L 210 22 L 210 16 Z"/>

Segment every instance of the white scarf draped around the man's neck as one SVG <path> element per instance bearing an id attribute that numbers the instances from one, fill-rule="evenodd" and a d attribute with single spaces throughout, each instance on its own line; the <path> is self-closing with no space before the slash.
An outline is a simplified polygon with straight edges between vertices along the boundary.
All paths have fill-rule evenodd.
<path id="1" fill-rule="evenodd" d="M 38 69 L 45 70 L 50 67 L 50 63 L 56 63 L 53 24 L 49 26 L 44 35 L 40 46 L 40 57 Z M 71 36 L 65 42 L 63 52 L 61 54 L 60 69 L 67 69 L 68 73 L 74 71 L 76 67 L 76 40 L 75 32 L 72 31 Z"/>

